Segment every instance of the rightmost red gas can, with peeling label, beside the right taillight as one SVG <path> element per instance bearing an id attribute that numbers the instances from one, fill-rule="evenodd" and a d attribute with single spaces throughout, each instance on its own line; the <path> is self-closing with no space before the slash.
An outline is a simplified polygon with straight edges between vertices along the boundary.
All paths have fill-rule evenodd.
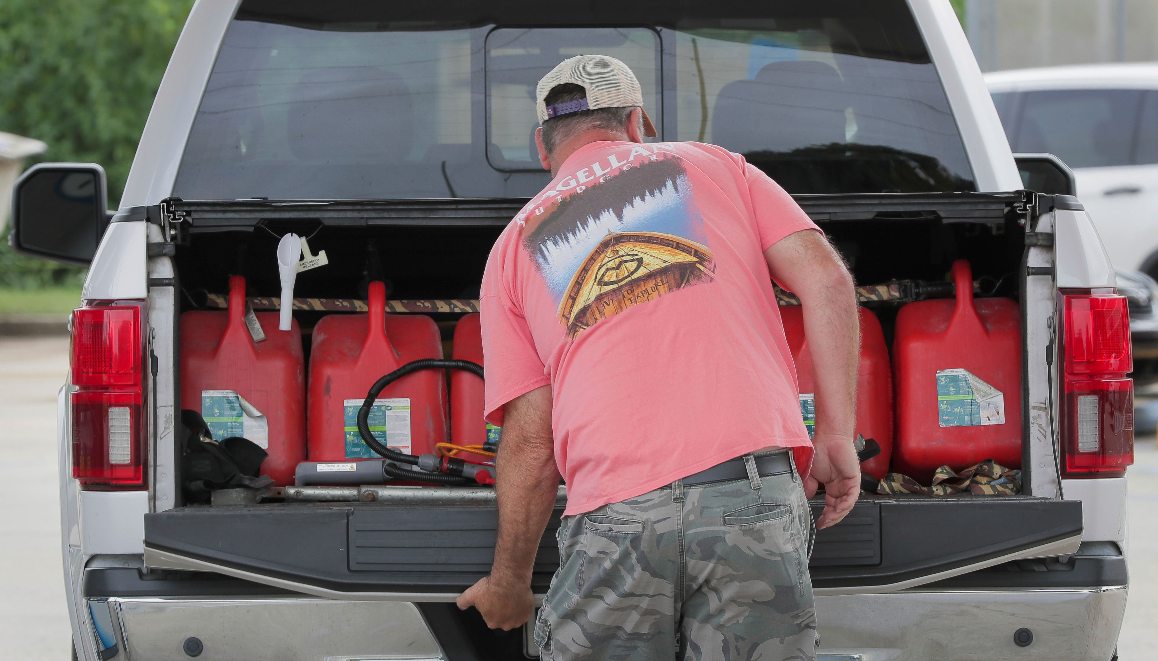
<path id="1" fill-rule="evenodd" d="M 973 300 L 969 263 L 953 264 L 957 301 L 896 316 L 893 470 L 926 479 L 992 458 L 1021 467 L 1021 323 L 1010 299 Z"/>

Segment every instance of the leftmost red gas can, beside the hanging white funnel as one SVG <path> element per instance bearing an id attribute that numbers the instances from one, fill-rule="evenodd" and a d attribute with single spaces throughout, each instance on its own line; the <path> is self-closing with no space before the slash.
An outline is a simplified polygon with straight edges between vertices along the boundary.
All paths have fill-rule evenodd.
<path id="1" fill-rule="evenodd" d="M 256 313 L 265 339 L 255 343 L 244 314 L 245 279 L 234 276 L 228 311 L 181 315 L 181 407 L 200 411 L 217 440 L 244 436 L 265 448 L 262 472 L 293 484 L 306 458 L 301 329 L 294 321 L 278 330 L 278 313 Z"/>

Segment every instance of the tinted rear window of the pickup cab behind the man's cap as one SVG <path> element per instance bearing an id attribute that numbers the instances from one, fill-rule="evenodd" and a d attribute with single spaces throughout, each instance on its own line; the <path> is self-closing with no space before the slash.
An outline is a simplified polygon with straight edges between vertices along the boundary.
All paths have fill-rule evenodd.
<path id="1" fill-rule="evenodd" d="M 975 190 L 903 0 L 245 0 L 174 194 L 529 197 L 535 83 L 582 53 L 635 71 L 655 140 L 720 145 L 790 192 Z"/>

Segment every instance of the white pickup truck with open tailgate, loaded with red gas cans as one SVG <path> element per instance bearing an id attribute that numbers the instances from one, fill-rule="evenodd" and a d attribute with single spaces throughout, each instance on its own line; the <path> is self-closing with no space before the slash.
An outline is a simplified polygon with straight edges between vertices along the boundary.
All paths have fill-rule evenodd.
<path id="1" fill-rule="evenodd" d="M 17 251 L 90 265 L 59 399 L 76 658 L 537 655 L 453 604 L 489 568 L 491 492 L 195 501 L 177 320 L 219 308 L 232 274 L 262 309 L 293 232 L 329 256 L 298 296 L 358 301 L 387 280 L 391 300 L 461 303 L 428 308 L 449 339 L 493 240 L 548 181 L 534 83 L 589 52 L 633 68 L 657 140 L 745 154 L 858 284 L 896 285 L 865 300 L 889 341 L 899 306 L 944 293 L 959 258 L 976 295 L 1020 306 L 1021 391 L 1005 401 L 1021 409 L 1021 492 L 863 495 L 812 556 L 819 659 L 1116 659 L 1128 326 L 1070 314 L 1115 296 L 1114 271 L 1064 167 L 1011 154 L 947 0 L 198 0 L 118 211 L 94 164 L 36 166 L 14 191 Z M 308 337 L 323 314 L 294 316 Z"/>

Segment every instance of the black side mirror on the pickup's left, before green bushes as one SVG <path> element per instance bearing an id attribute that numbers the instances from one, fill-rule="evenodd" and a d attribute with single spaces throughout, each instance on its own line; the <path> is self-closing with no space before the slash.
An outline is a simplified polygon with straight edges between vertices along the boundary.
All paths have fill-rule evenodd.
<path id="1" fill-rule="evenodd" d="M 109 226 L 107 196 L 96 163 L 32 166 L 13 186 L 8 242 L 21 255 L 87 266 Z"/>

